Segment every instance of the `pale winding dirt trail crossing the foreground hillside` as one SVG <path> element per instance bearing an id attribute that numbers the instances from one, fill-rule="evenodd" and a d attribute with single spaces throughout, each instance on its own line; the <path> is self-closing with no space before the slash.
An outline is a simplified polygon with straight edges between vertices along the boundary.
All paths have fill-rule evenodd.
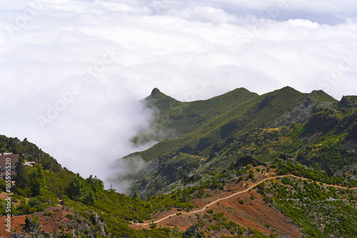
<path id="1" fill-rule="evenodd" d="M 213 202 L 209 203 L 208 205 L 204 206 L 202 209 L 199 209 L 199 210 L 196 210 L 196 211 L 192 211 L 192 212 L 185 212 L 185 213 L 181 213 L 181 214 L 196 214 L 198 212 L 203 212 L 204 210 L 206 210 L 208 207 L 210 207 L 211 205 L 214 205 L 216 204 L 217 202 L 219 201 L 222 201 L 222 200 L 227 200 L 231 197 L 234 197 L 236 195 L 240 195 L 242 193 L 245 193 L 245 192 L 248 192 L 249 190 L 251 190 L 254 186 L 256 185 L 259 185 L 261 184 L 262 182 L 266 181 L 266 180 L 273 180 L 273 179 L 276 179 L 278 177 L 296 177 L 298 179 L 302 179 L 302 180 L 309 180 L 308 178 L 306 177 L 298 177 L 296 175 L 280 175 L 280 176 L 273 176 L 273 177 L 266 177 L 265 179 L 259 181 L 259 182 L 256 182 L 256 183 L 253 183 L 250 187 L 248 187 L 246 190 L 242 190 L 242 191 L 239 191 L 239 192 L 236 192 L 236 193 L 233 193 L 232 195 L 229 195 L 227 197 L 222 197 L 218 200 L 214 200 Z M 338 186 L 338 185 L 328 185 L 326 183 L 322 183 L 322 182 L 318 182 L 319 185 L 326 185 L 326 186 L 330 186 L 330 187 L 338 187 L 338 188 L 341 188 L 341 189 L 344 189 L 344 190 L 348 190 L 348 187 L 342 187 L 342 186 Z M 349 190 L 357 190 L 357 187 L 352 187 L 350 188 Z M 158 219 L 156 221 L 154 221 L 154 223 L 159 223 L 159 222 L 162 222 L 166 219 L 169 219 L 170 217 L 172 216 L 176 216 L 176 213 L 173 213 L 173 214 L 169 214 L 167 215 L 166 217 L 163 217 L 161 219 Z M 133 224 L 137 224 L 139 226 L 149 226 L 150 223 L 134 223 L 134 222 L 131 222 Z"/>

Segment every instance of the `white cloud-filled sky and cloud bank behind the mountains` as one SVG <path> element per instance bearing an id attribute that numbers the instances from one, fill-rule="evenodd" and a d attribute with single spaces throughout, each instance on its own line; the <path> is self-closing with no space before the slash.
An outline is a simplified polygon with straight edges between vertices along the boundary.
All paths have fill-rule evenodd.
<path id="1" fill-rule="evenodd" d="M 357 1 L 1 0 L 0 134 L 84 177 L 129 154 L 154 87 L 357 91 Z"/>

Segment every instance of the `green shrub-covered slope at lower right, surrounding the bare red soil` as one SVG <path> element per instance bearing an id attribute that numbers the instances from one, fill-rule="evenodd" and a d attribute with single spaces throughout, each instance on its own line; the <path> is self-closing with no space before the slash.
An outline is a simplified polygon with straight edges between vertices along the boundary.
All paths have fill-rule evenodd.
<path id="1" fill-rule="evenodd" d="M 215 193 L 230 192 L 231 186 L 257 182 L 257 177 L 266 173 L 281 177 L 254 186 L 247 192 L 250 194 L 248 199 L 241 199 L 238 195 L 237 201 L 241 205 L 255 200 L 255 191 L 269 207 L 274 207 L 289 217 L 293 224 L 301 229 L 303 237 L 356 237 L 357 190 L 348 188 L 356 187 L 357 182 L 351 174 L 328 176 L 304 167 L 290 155 L 281 154 L 275 161 L 268 163 L 259 162 L 249 156 L 242 157 L 220 172 L 210 172 L 207 176 L 195 179 L 191 177 L 191 180 L 186 179 L 183 182 L 192 186 L 191 190 L 195 191 L 191 194 L 192 197 L 204 199 L 211 196 L 211 193 L 206 192 L 207 189 Z M 227 213 L 230 209 L 231 207 L 228 207 Z M 208 214 L 203 217 L 214 219 L 218 215 L 225 215 L 214 215 L 212 209 L 207 209 L 206 212 Z M 246 234 L 241 233 L 245 229 L 232 230 L 234 222 L 227 218 L 214 220 L 216 222 L 212 219 L 199 219 L 195 225 L 201 227 L 207 237 L 221 229 L 226 229 L 238 237 Z M 274 218 L 271 217 L 271 220 Z M 266 223 L 265 226 L 271 227 L 271 224 Z M 274 237 L 275 232 L 280 232 L 274 232 L 274 229 L 272 231 L 271 237 Z M 284 234 L 281 235 L 284 237 Z"/>

